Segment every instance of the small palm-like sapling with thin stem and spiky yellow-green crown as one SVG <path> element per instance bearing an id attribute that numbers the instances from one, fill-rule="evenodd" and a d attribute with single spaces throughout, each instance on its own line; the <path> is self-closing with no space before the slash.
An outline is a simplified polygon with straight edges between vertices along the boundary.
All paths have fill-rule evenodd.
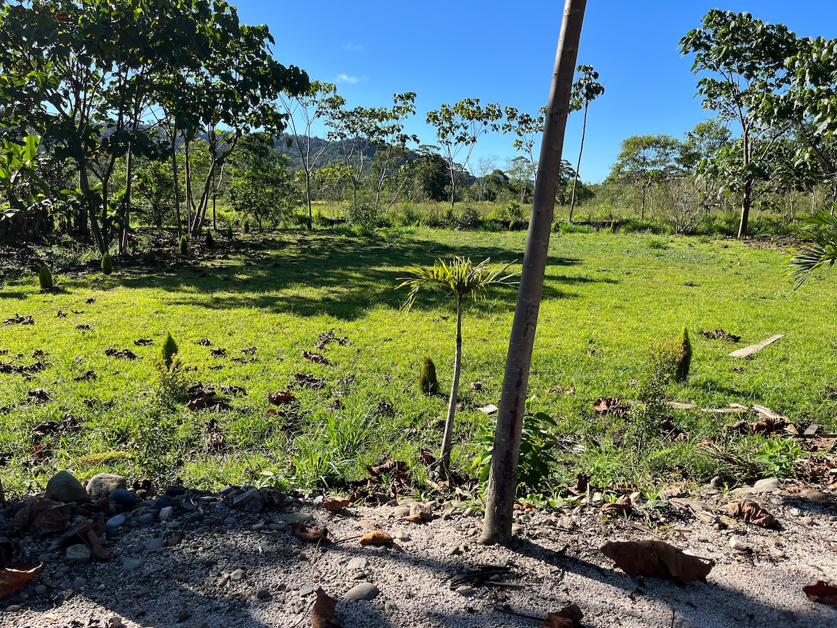
<path id="1" fill-rule="evenodd" d="M 513 286 L 516 281 L 511 278 L 516 273 L 506 274 L 508 264 L 490 266 L 490 258 L 474 264 L 470 259 L 454 256 L 453 260 L 436 260 L 432 266 L 412 265 L 408 268 L 411 277 L 401 277 L 397 288 L 409 287 L 407 301 L 403 309 L 409 311 L 415 303 L 419 290 L 424 286 L 441 286 L 456 298 L 456 353 L 454 354 L 454 379 L 450 386 L 448 401 L 448 415 L 444 422 L 444 437 L 442 438 L 442 455 L 439 456 L 439 466 L 444 476 L 449 476 L 450 450 L 453 449 L 454 414 L 456 414 L 456 397 L 460 386 L 460 370 L 462 368 L 462 300 L 465 296 L 472 296 L 474 301 L 485 298 L 489 286 Z"/>

